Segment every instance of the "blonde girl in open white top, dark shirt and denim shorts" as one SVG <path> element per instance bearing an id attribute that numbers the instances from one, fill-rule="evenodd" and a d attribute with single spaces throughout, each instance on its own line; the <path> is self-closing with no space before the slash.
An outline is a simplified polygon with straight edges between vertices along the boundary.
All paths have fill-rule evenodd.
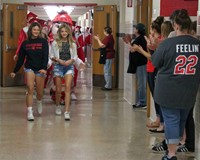
<path id="1" fill-rule="evenodd" d="M 51 60 L 54 62 L 53 73 L 56 84 L 56 114 L 61 115 L 60 97 L 62 79 L 65 80 L 65 120 L 70 120 L 70 93 L 74 75 L 74 62 L 77 59 L 77 46 L 72 38 L 71 28 L 62 24 L 58 37 L 51 46 Z"/>

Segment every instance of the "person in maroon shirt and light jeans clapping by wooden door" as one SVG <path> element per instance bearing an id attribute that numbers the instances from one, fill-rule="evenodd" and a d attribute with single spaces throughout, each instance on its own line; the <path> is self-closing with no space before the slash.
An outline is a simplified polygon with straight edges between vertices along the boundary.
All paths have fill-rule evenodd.
<path id="1" fill-rule="evenodd" d="M 102 41 L 98 35 L 94 36 L 94 39 L 97 40 L 100 48 L 106 49 L 106 63 L 104 64 L 104 79 L 106 84 L 102 90 L 112 90 L 112 63 L 115 56 L 112 28 L 105 27 L 104 35 L 105 37 Z"/>

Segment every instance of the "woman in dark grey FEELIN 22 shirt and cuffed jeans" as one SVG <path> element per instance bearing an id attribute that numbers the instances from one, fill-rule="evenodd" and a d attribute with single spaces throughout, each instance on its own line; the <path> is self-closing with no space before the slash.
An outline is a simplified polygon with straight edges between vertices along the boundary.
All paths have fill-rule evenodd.
<path id="1" fill-rule="evenodd" d="M 177 145 L 199 88 L 200 41 L 190 35 L 190 26 L 187 10 L 180 10 L 174 18 L 177 36 L 162 42 L 152 56 L 158 69 L 154 96 L 163 113 L 168 147 L 162 160 L 177 160 Z"/>

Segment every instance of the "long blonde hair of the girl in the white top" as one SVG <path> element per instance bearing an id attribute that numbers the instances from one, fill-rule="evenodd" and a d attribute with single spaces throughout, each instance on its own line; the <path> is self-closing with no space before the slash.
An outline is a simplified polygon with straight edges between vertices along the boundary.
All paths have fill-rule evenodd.
<path id="1" fill-rule="evenodd" d="M 73 37 L 72 37 L 72 31 L 71 28 L 69 27 L 69 25 L 67 24 L 62 24 L 59 28 L 58 28 L 58 37 L 56 39 L 58 47 L 61 48 L 62 47 L 62 35 L 61 35 L 61 30 L 65 29 L 68 33 L 67 35 L 67 42 L 69 43 L 70 47 L 72 47 L 72 43 L 74 43 Z"/>

